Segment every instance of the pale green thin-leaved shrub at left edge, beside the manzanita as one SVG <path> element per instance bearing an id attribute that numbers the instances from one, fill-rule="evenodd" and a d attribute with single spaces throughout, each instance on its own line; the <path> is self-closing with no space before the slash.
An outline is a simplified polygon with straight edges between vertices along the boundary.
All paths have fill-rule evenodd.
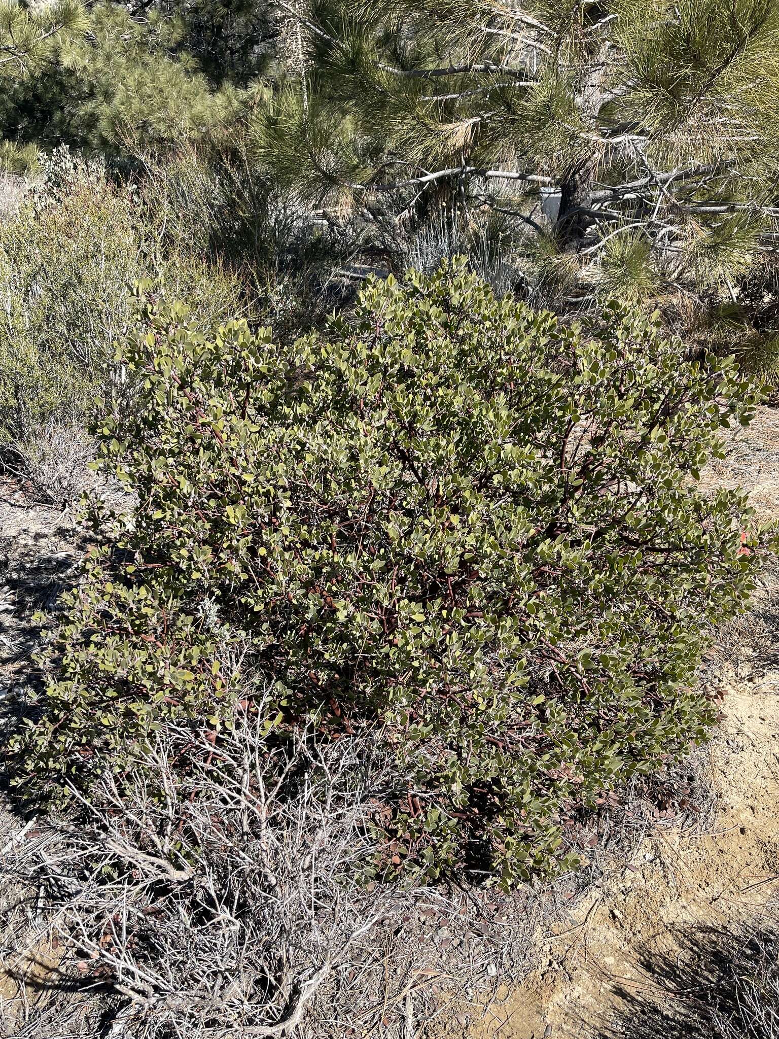
<path id="1" fill-rule="evenodd" d="M 0 460 L 33 483 L 52 429 L 77 429 L 111 383 L 128 389 L 114 344 L 132 323 L 137 278 L 167 283 L 207 324 L 241 298 L 237 277 L 196 243 L 161 242 L 159 225 L 141 219 L 138 192 L 113 183 L 103 163 L 64 148 L 42 163 L 0 222 Z"/>

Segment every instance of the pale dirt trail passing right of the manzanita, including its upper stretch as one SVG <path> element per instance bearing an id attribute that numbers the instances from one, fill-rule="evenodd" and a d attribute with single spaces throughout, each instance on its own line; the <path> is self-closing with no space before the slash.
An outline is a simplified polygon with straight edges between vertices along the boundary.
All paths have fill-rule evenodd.
<path id="1" fill-rule="evenodd" d="M 758 411 L 709 467 L 711 486 L 744 486 L 760 521 L 779 518 L 779 412 Z M 779 572 L 750 615 L 722 633 L 713 681 L 725 720 L 710 751 L 717 800 L 704 832 L 661 830 L 603 878 L 573 921 L 540 941 L 536 969 L 500 993 L 469 1039 L 595 1039 L 637 996 L 667 998 L 652 962 L 689 956 L 695 928 L 754 917 L 779 882 Z M 609 1034 L 622 1034 L 621 1028 Z"/>

